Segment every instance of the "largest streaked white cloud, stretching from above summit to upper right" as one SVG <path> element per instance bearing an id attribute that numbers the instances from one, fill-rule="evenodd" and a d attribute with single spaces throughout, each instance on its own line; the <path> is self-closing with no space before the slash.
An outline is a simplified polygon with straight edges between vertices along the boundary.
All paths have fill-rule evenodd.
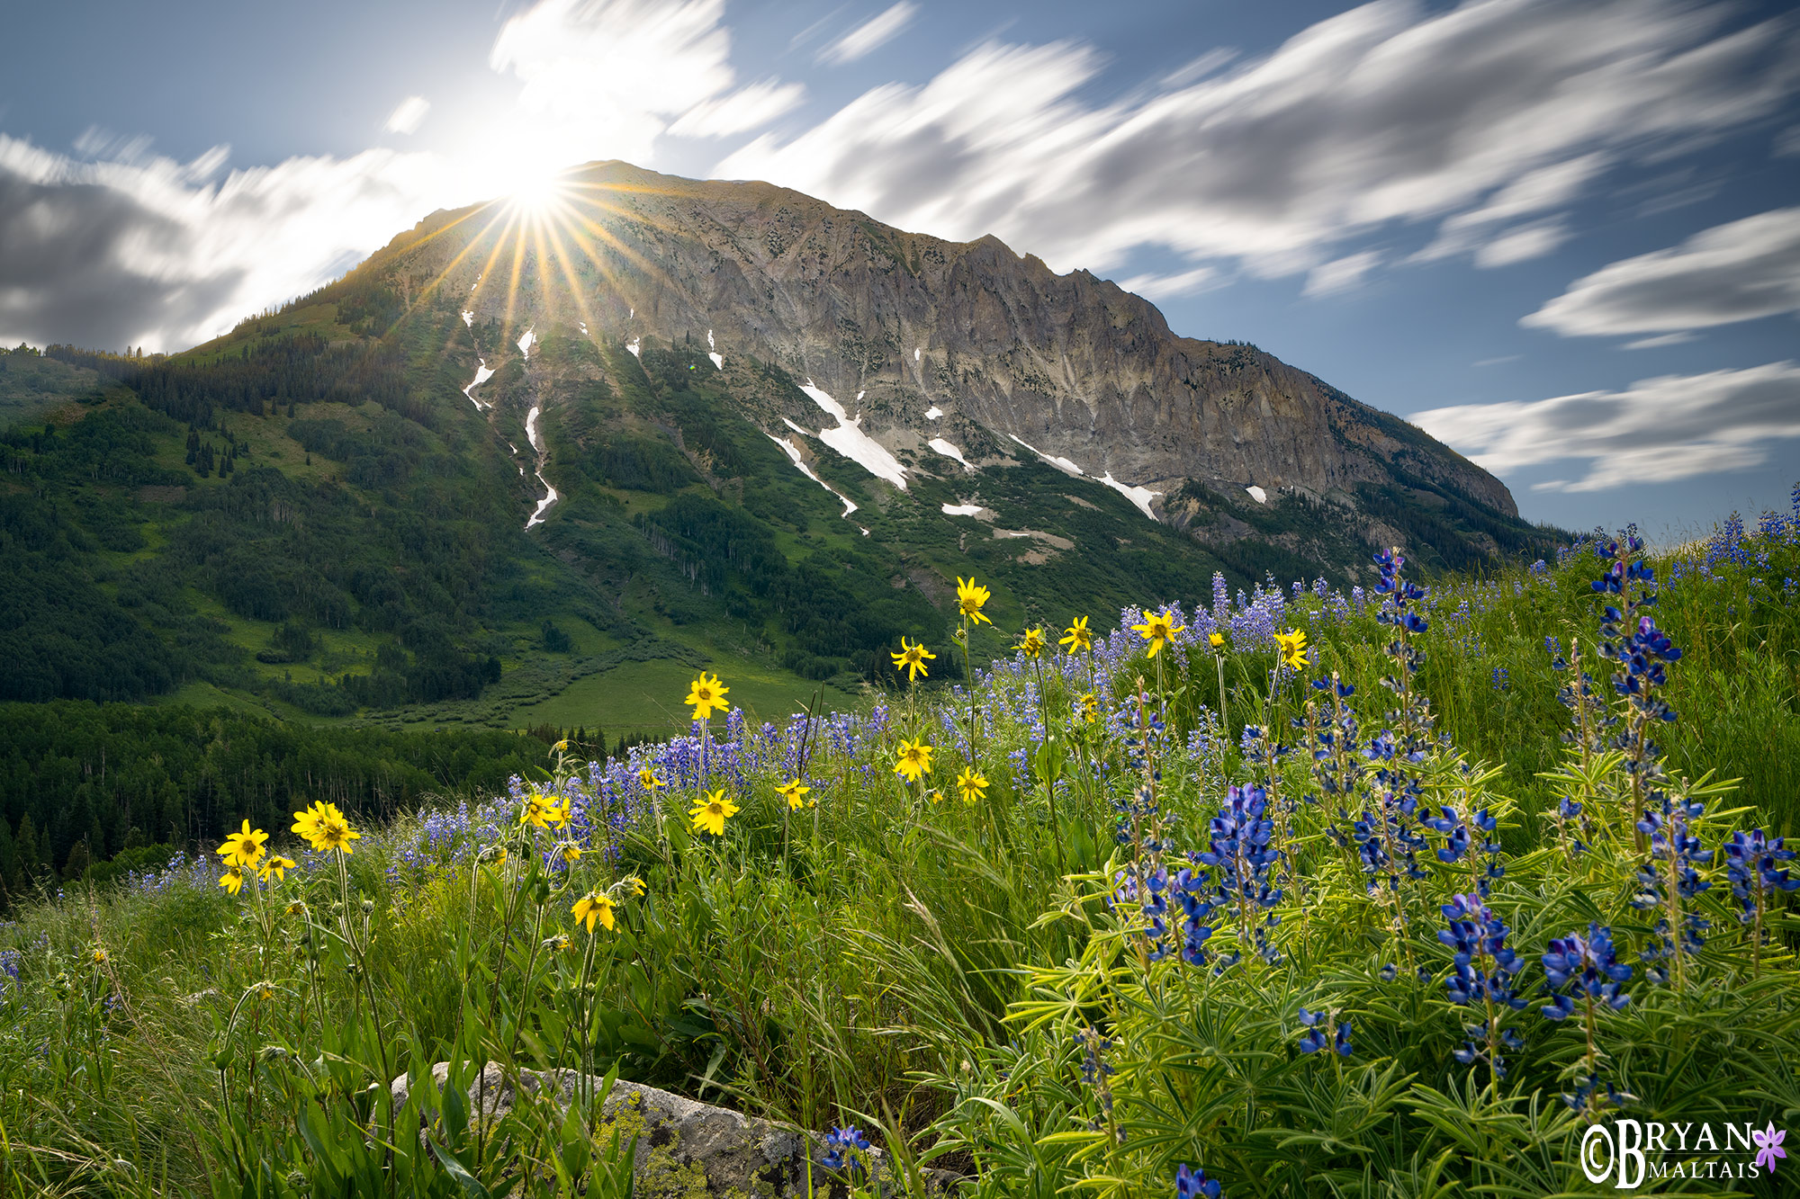
<path id="1" fill-rule="evenodd" d="M 1721 18 L 1674 0 L 1381 0 L 1116 103 L 1082 95 L 1100 72 L 1085 45 L 986 43 L 922 86 L 760 137 L 716 173 L 940 236 L 995 232 L 1058 270 L 1163 247 L 1190 266 L 1292 274 L 1382 225 L 1458 216 L 1472 250 L 1627 153 L 1775 112 L 1800 83 L 1800 54 L 1769 50 L 1791 27 L 1721 34 Z"/>

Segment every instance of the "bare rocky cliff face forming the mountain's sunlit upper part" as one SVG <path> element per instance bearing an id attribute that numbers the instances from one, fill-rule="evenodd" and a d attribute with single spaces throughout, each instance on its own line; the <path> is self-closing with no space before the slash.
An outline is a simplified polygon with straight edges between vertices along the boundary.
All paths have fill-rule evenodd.
<path id="1" fill-rule="evenodd" d="M 1114 283 L 769 184 L 594 164 L 536 225 L 504 205 L 439 212 L 367 268 L 398 272 L 409 292 L 436 279 L 468 320 L 509 331 L 504 353 L 526 326 L 562 322 L 634 349 L 711 351 L 727 373 L 772 364 L 842 405 L 844 425 L 895 463 L 959 470 L 941 445 L 974 470 L 1037 455 L 1168 524 L 1192 520 L 1197 488 L 1357 513 L 1359 484 L 1427 486 L 1517 517 L 1498 479 L 1411 425 L 1251 346 L 1177 337 Z M 810 391 L 817 407 L 792 389 L 743 392 L 770 436 L 832 410 Z M 1354 524 L 1391 535 L 1373 517 Z"/>

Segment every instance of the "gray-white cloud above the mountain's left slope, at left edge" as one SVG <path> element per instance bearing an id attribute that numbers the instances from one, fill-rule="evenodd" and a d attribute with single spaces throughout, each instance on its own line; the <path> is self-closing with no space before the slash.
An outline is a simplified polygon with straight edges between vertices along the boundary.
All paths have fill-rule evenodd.
<path id="1" fill-rule="evenodd" d="M 290 158 L 207 182 L 180 164 L 77 162 L 0 135 L 0 342 L 184 349 L 319 286 L 446 191 L 428 155 Z"/>

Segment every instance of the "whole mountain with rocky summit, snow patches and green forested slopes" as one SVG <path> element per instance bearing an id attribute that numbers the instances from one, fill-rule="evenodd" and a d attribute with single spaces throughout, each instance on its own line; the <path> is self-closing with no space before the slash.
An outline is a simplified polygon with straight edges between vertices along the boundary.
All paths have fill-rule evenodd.
<path id="1" fill-rule="evenodd" d="M 958 576 L 1019 628 L 1546 544 L 1417 428 L 1091 274 L 626 164 L 167 360 L 4 355 L 4 699 L 650 727 L 700 664 L 772 711 L 947 650 Z"/>

